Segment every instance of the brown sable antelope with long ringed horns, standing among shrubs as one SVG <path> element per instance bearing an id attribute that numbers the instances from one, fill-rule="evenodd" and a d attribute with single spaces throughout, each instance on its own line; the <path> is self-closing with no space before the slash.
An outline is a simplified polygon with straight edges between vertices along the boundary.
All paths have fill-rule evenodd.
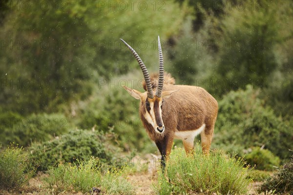
<path id="1" fill-rule="evenodd" d="M 164 74 L 160 37 L 159 74 L 150 77 L 139 55 L 121 40 L 130 49 L 143 71 L 143 86 L 146 92 L 141 93 L 126 86 L 124 88 L 133 98 L 140 100 L 140 117 L 148 136 L 156 143 L 162 155 L 162 168 L 166 166 L 174 138 L 182 139 L 185 151 L 189 154 L 193 150 L 194 137 L 200 134 L 203 153 L 209 154 L 218 113 L 217 101 L 201 87 L 174 85 L 175 79 L 170 74 Z"/>

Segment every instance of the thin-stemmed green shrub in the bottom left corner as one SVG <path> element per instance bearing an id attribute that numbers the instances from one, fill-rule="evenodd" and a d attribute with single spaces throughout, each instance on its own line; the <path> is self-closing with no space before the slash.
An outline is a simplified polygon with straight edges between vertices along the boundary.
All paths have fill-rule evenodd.
<path id="1" fill-rule="evenodd" d="M 1 145 L 0 145 L 1 149 Z M 0 189 L 16 190 L 28 184 L 34 170 L 27 153 L 11 144 L 0 152 Z"/>

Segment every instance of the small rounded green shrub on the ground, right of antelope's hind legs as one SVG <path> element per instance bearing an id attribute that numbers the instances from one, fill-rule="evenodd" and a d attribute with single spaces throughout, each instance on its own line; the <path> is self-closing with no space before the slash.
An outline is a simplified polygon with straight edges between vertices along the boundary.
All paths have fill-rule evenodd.
<path id="1" fill-rule="evenodd" d="M 280 158 L 274 156 L 271 151 L 267 149 L 261 149 L 259 147 L 253 147 L 251 153 L 244 157 L 252 166 L 259 170 L 272 171 L 274 166 L 280 165 Z"/>

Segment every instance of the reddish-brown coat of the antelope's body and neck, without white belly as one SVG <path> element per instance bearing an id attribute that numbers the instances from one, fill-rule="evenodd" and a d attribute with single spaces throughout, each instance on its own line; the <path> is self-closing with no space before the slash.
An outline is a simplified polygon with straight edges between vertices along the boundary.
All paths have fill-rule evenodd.
<path id="1" fill-rule="evenodd" d="M 152 88 L 155 91 L 158 83 L 158 74 L 150 76 Z M 146 84 L 143 82 L 144 89 Z M 162 103 L 162 119 L 166 130 L 163 134 L 154 131 L 151 124 L 146 121 L 144 102 L 140 105 L 140 117 L 146 128 L 148 136 L 153 141 L 162 140 L 168 134 L 178 131 L 192 131 L 206 124 L 205 134 L 212 136 L 213 127 L 217 117 L 218 103 L 205 89 L 197 86 L 175 85 L 175 79 L 170 74 L 164 75 L 164 91 L 179 90 Z"/>

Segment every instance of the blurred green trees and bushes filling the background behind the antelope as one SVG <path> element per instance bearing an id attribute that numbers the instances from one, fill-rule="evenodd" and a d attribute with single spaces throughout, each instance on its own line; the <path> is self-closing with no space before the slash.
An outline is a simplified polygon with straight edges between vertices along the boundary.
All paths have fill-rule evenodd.
<path id="1" fill-rule="evenodd" d="M 0 19 L 3 146 L 110 127 L 124 151 L 155 152 L 122 87 L 143 91 L 143 75 L 119 39 L 155 72 L 160 35 L 176 83 L 219 102 L 213 148 L 292 154 L 291 0 L 2 0 Z"/>

